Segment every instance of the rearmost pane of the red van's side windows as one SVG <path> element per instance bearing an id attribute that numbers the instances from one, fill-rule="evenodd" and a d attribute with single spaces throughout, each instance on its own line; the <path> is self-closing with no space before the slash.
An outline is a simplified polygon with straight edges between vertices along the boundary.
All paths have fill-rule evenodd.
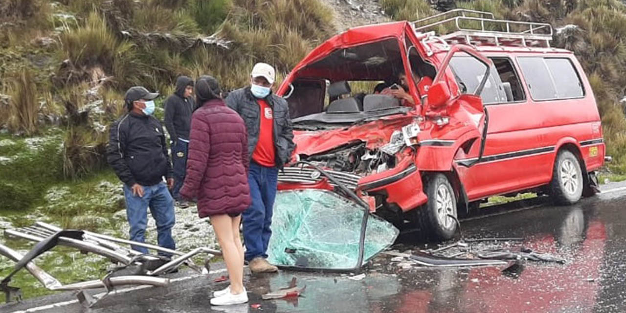
<path id="1" fill-rule="evenodd" d="M 580 77 L 570 59 L 546 58 L 545 61 L 554 78 L 558 98 L 579 98 L 585 95 Z"/>

